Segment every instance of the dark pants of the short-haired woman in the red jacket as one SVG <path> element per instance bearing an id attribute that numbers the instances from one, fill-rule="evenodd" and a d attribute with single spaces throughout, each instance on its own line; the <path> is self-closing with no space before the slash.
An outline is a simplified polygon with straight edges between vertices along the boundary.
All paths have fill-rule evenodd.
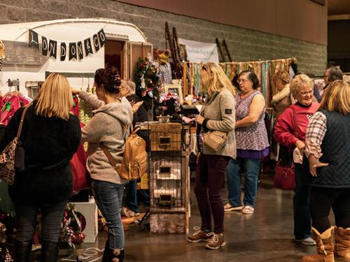
<path id="1" fill-rule="evenodd" d="M 294 209 L 294 236 L 296 240 L 309 238 L 311 235 L 310 190 L 307 184 L 302 184 L 302 165 L 295 163 L 295 195 Z"/>

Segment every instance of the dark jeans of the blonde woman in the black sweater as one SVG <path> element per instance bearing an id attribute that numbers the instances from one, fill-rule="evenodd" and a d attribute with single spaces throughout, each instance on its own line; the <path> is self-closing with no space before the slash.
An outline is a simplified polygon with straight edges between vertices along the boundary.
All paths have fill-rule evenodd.
<path id="1" fill-rule="evenodd" d="M 45 241 L 58 242 L 64 208 L 68 201 L 50 204 L 13 203 L 16 212 L 16 239 L 28 242 L 33 239 L 36 228 L 36 214 L 41 210 L 41 237 Z"/>

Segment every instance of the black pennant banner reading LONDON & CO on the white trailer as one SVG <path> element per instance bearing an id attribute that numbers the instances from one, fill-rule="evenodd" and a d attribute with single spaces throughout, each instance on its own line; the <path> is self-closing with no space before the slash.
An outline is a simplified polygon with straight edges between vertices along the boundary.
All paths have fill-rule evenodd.
<path id="1" fill-rule="evenodd" d="M 29 47 L 34 47 L 38 50 L 41 47 L 41 54 L 44 56 L 49 54 L 50 57 L 57 59 L 57 50 L 59 49 L 60 61 L 66 60 L 67 55 L 69 60 L 81 60 L 84 58 L 84 51 L 85 57 L 87 57 L 87 55 L 99 51 L 104 46 L 104 43 L 106 43 L 106 34 L 104 34 L 104 29 L 101 29 L 97 34 L 93 34 L 89 38 L 74 43 L 64 43 L 62 41 L 56 41 L 41 36 L 40 44 L 39 39 L 40 37 L 38 33 L 29 29 Z M 58 48 L 58 45 L 60 48 Z M 94 50 L 92 50 L 92 46 L 94 47 Z"/>

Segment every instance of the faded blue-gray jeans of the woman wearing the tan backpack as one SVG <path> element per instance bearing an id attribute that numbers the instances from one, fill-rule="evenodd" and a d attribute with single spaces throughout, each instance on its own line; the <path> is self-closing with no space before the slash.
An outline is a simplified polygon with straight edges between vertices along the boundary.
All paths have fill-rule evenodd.
<path id="1" fill-rule="evenodd" d="M 109 248 L 124 249 L 124 228 L 120 217 L 124 184 L 92 180 L 94 198 L 109 228 Z"/>

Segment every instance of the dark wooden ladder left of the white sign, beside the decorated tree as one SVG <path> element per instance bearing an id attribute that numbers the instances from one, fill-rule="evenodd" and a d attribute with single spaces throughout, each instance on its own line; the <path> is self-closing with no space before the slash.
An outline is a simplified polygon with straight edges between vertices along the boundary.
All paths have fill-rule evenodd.
<path id="1" fill-rule="evenodd" d="M 180 58 L 180 44 L 175 27 L 172 28 L 172 33 L 173 34 L 170 34 L 168 22 L 165 22 L 165 39 L 167 43 L 169 43 L 170 52 L 172 52 L 172 59 L 175 67 L 175 75 L 177 79 L 181 79 L 182 66 Z"/>

